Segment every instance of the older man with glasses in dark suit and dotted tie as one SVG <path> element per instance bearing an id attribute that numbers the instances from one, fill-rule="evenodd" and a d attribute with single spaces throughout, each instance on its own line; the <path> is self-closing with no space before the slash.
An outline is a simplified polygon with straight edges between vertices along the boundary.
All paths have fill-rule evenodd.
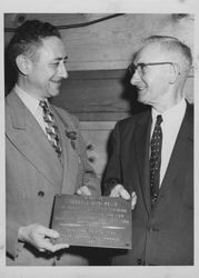
<path id="1" fill-rule="evenodd" d="M 118 250 L 112 265 L 193 265 L 193 108 L 182 91 L 191 63 L 178 39 L 152 36 L 130 67 L 138 100 L 151 110 L 112 133 L 105 193 L 137 200 L 132 249 Z"/>

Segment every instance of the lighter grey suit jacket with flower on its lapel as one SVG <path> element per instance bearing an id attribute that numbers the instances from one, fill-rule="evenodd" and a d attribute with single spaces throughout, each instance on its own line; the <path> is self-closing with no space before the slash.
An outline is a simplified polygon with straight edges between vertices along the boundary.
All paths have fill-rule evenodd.
<path id="1" fill-rule="evenodd" d="M 18 229 L 30 224 L 49 227 L 56 193 L 73 195 L 86 185 L 100 195 L 99 180 L 88 162 L 78 120 L 52 107 L 62 143 L 62 161 L 41 127 L 12 90 L 6 98 L 6 187 L 8 265 L 51 265 L 52 255 L 18 241 Z M 76 131 L 71 142 L 68 132 Z M 70 244 L 70 242 L 69 242 Z M 57 265 L 87 265 L 81 249 L 59 252 Z M 12 258 L 12 259 L 10 259 Z"/>

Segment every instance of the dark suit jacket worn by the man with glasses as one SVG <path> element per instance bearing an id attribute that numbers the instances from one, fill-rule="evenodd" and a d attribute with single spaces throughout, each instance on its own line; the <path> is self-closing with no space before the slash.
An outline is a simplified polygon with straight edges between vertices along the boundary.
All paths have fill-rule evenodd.
<path id="1" fill-rule="evenodd" d="M 137 193 L 132 211 L 132 249 L 115 254 L 113 265 L 193 264 L 193 108 L 187 105 L 177 141 L 150 206 L 149 142 L 151 112 L 117 123 L 105 175 L 105 193 L 122 183 Z"/>

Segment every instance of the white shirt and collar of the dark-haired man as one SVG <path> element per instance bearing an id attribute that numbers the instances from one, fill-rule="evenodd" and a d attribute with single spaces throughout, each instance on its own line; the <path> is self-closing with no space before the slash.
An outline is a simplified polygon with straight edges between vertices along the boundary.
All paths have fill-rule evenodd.
<path id="1" fill-rule="evenodd" d="M 24 106 L 29 109 L 29 111 L 32 113 L 32 116 L 36 118 L 43 132 L 46 133 L 47 123 L 43 121 L 42 108 L 39 106 L 41 99 L 37 99 L 33 96 L 27 93 L 18 85 L 16 85 L 14 90 L 18 97 L 22 100 Z"/>

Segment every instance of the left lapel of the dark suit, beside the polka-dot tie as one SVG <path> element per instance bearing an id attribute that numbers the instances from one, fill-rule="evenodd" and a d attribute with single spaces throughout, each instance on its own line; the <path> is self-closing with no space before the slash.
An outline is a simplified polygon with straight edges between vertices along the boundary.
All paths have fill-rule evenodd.
<path id="1" fill-rule="evenodd" d="M 149 142 L 150 142 L 151 116 L 147 112 L 137 123 L 135 130 L 136 161 L 143 200 L 148 212 L 150 212 L 150 183 L 149 183 Z"/>

